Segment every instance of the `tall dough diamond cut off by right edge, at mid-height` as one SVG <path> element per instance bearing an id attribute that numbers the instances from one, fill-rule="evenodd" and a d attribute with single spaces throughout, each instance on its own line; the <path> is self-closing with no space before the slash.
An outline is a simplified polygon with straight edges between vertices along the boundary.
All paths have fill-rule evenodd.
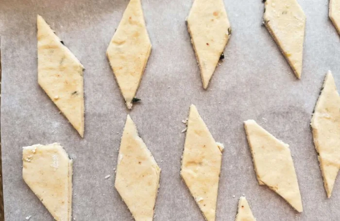
<path id="1" fill-rule="evenodd" d="M 331 197 L 340 169 L 340 96 L 332 73 L 324 79 L 321 95 L 311 121 L 316 151 L 319 153 L 324 189 Z"/>

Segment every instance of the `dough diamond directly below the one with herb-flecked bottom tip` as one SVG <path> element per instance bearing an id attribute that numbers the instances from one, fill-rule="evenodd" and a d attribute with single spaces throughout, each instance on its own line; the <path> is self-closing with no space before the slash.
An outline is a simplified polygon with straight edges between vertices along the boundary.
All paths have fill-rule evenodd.
<path id="1" fill-rule="evenodd" d="M 115 187 L 136 221 L 152 221 L 161 169 L 127 116 L 121 137 Z"/>

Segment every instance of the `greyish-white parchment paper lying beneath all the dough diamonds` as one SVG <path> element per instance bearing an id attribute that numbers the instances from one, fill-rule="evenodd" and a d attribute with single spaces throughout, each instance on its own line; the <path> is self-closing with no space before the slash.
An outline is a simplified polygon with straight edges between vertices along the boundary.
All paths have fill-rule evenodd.
<path id="1" fill-rule="evenodd" d="M 203 221 L 182 181 L 185 125 L 195 104 L 215 140 L 223 142 L 217 221 L 235 219 L 244 194 L 258 221 L 340 220 L 340 183 L 326 199 L 309 127 L 324 76 L 340 88 L 340 38 L 328 18 L 328 1 L 299 0 L 306 14 L 301 80 L 297 80 L 267 30 L 260 0 L 224 0 L 232 35 L 208 90 L 202 89 L 185 25 L 191 0 L 142 0 L 153 45 L 137 92 L 125 108 L 105 56 L 128 0 L 1 0 L 1 142 L 6 221 L 52 220 L 23 182 L 21 147 L 60 142 L 74 159 L 73 218 L 125 221 L 131 214 L 114 188 L 114 168 L 126 115 L 162 168 L 155 221 Z M 37 84 L 36 15 L 43 16 L 84 64 L 85 137 L 81 139 Z M 304 212 L 295 212 L 257 184 L 243 121 L 256 120 L 289 143 Z M 104 177 L 111 174 L 111 177 Z M 234 197 L 235 196 L 235 197 Z"/>

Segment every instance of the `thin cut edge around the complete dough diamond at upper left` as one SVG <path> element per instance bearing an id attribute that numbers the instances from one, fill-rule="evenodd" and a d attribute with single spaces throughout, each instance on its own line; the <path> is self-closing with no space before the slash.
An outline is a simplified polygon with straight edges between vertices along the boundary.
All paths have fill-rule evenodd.
<path id="1" fill-rule="evenodd" d="M 39 17 L 40 15 L 37 15 L 37 17 Z M 42 17 L 42 16 L 40 16 L 44 21 L 45 21 L 45 19 Z M 38 77 L 38 84 L 39 84 L 39 86 L 40 86 L 40 88 L 42 88 L 43 89 L 43 91 L 44 91 L 44 93 L 52 100 L 52 102 L 53 102 L 53 104 L 58 108 L 58 110 L 61 112 L 61 113 L 63 113 L 63 115 L 64 115 L 64 117 L 66 118 L 66 120 L 68 120 L 68 123 L 70 124 L 70 125 L 72 125 L 73 126 L 73 128 L 78 132 L 78 134 L 81 136 L 81 138 L 84 138 L 84 131 L 85 131 L 85 96 L 84 96 L 84 70 L 85 70 L 85 67 L 84 67 L 84 65 L 80 62 L 80 60 L 72 53 L 72 51 L 68 48 L 68 47 L 66 47 L 64 44 L 62 44 L 60 41 L 61 41 L 61 39 L 59 38 L 59 36 L 55 33 L 55 31 L 51 28 L 51 26 L 45 21 L 45 23 L 50 27 L 50 29 L 52 30 L 52 32 L 54 33 L 54 38 L 56 39 L 56 41 L 58 42 L 58 45 L 59 46 L 62 46 L 63 48 L 65 48 L 66 50 L 66 53 L 68 53 L 73 59 L 75 59 L 77 62 L 79 62 L 79 64 L 81 65 L 81 67 L 83 68 L 83 70 L 82 70 L 82 77 L 83 77 L 83 100 L 84 100 L 84 104 L 83 104 L 83 108 L 82 108 L 82 122 L 83 122 L 83 125 L 81 126 L 81 128 L 83 128 L 82 130 L 80 130 L 80 131 L 78 131 L 77 129 L 76 129 L 76 127 L 71 123 L 71 122 L 69 122 L 69 120 L 68 120 L 68 118 L 66 117 L 66 115 L 64 114 L 64 112 L 57 106 L 57 104 L 56 103 L 54 103 L 54 100 L 53 100 L 53 98 L 52 97 L 50 97 L 48 94 L 47 94 L 47 92 L 46 92 L 46 90 L 44 89 L 44 87 L 40 84 L 40 82 L 39 82 L 39 77 Z M 38 25 L 36 25 L 36 33 L 38 33 Z M 38 37 L 38 36 L 37 36 Z M 38 39 L 37 39 L 37 42 L 38 42 Z M 37 50 L 38 50 L 38 48 L 37 48 Z M 38 57 L 38 52 L 37 52 L 37 60 L 39 59 L 39 57 Z"/>

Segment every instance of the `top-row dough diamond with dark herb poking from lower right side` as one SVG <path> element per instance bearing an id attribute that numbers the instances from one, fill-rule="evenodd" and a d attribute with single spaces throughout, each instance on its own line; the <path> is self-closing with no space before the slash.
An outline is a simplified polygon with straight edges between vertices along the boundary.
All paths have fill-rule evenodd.
<path id="1" fill-rule="evenodd" d="M 187 29 L 206 89 L 231 34 L 223 0 L 194 0 Z"/>

